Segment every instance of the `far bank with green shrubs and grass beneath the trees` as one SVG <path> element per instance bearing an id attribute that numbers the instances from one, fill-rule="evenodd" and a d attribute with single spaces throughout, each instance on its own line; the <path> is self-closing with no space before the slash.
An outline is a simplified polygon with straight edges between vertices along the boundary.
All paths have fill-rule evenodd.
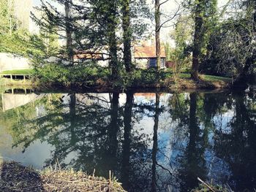
<path id="1" fill-rule="evenodd" d="M 55 66 L 57 67 L 57 66 Z M 105 88 L 124 90 L 129 88 L 229 88 L 231 79 L 211 75 L 200 75 L 200 80 L 190 79 L 190 74 L 181 73 L 178 78 L 173 72 L 161 70 L 157 77 L 154 69 L 137 69 L 132 74 L 125 72 L 117 80 L 111 80 L 108 69 L 91 67 L 84 69 L 15 70 L 2 74 L 31 74 L 31 80 L 1 78 L 0 85 L 34 85 L 41 88 Z"/>

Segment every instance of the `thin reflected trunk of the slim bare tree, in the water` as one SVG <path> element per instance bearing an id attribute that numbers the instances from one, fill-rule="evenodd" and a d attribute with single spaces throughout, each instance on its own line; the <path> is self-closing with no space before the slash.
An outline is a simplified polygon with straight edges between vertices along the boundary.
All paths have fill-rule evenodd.
<path id="1" fill-rule="evenodd" d="M 153 149 L 152 149 L 152 188 L 151 191 L 157 191 L 157 131 L 159 123 L 159 103 L 160 96 L 159 93 L 156 93 L 156 113 L 154 115 L 154 136 L 153 136 Z"/>

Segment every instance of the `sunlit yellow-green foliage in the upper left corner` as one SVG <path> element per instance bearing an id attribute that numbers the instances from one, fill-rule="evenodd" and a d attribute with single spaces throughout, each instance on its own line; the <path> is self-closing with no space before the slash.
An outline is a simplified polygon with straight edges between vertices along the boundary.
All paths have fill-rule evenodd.
<path id="1" fill-rule="evenodd" d="M 58 37 L 53 34 L 52 28 L 46 31 L 41 29 L 39 34 L 30 34 L 26 28 L 21 28 L 19 23 L 14 16 L 12 0 L 0 0 L 0 52 L 32 59 L 56 55 Z"/>

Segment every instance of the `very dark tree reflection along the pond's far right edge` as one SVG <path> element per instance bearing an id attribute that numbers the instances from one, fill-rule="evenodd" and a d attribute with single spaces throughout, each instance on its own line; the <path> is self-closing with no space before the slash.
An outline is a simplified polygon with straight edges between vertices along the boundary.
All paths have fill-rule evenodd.
<path id="1" fill-rule="evenodd" d="M 215 134 L 215 151 L 229 164 L 232 176 L 229 183 L 235 191 L 256 188 L 256 107 L 255 96 L 233 94 L 235 115 L 228 128 Z"/>

